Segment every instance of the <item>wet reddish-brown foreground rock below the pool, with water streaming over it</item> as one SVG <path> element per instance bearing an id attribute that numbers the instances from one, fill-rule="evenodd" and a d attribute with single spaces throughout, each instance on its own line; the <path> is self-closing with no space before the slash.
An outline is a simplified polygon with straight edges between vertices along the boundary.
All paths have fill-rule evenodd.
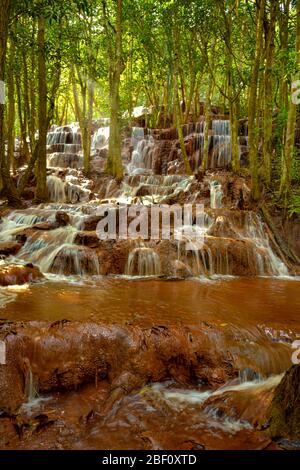
<path id="1" fill-rule="evenodd" d="M 278 379 L 245 375 L 213 325 L 61 320 L 0 332 L 1 448 L 277 448 L 260 429 Z"/>

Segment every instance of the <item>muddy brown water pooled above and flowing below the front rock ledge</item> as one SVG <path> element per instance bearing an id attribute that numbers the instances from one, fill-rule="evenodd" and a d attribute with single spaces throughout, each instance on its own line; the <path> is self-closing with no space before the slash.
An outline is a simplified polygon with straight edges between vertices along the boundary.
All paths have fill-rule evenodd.
<path id="1" fill-rule="evenodd" d="M 0 419 L 5 449 L 273 449 L 260 430 L 280 375 L 300 335 L 300 283 L 291 279 L 227 278 L 212 281 L 103 278 L 47 281 L 1 289 L 0 317 L 115 324 L 211 324 L 236 347 L 245 367 L 263 377 L 241 379 L 217 391 L 178 383 L 149 384 L 103 415 L 110 393 L 104 380 L 55 392 L 20 410 L 30 426 L 16 434 Z M 245 340 L 239 340 L 245 338 Z M 241 359 L 243 359 L 243 357 Z M 243 361 L 241 361 L 242 363 Z M 276 375 L 277 374 L 277 375 Z M 223 388 L 222 388 L 223 387 Z M 46 398 L 46 399 L 45 399 Z M 40 423 L 39 416 L 47 419 Z M 38 418 L 37 418 L 38 417 Z M 47 424 L 48 423 L 48 424 Z"/>

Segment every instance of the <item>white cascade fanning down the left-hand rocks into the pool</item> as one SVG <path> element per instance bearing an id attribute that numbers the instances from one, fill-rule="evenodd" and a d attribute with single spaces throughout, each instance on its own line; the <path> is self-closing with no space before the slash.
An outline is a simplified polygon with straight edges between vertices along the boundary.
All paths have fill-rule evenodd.
<path id="1" fill-rule="evenodd" d="M 82 208 L 84 209 L 84 208 Z M 88 247 L 75 244 L 77 233 L 87 217 L 76 206 L 46 205 L 26 211 L 15 211 L 2 220 L 0 240 L 7 241 L 26 233 L 26 241 L 17 256 L 18 262 L 33 263 L 43 273 L 67 275 L 99 275 L 97 254 Z M 50 230 L 32 230 L 36 224 L 55 223 L 57 211 L 66 212 L 69 224 Z M 29 232 L 26 230 L 29 229 Z"/>

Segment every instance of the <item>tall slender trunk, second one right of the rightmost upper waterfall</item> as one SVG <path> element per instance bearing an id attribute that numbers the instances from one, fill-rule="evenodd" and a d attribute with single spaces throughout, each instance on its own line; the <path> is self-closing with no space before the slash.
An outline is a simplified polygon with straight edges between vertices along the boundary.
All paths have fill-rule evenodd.
<path id="1" fill-rule="evenodd" d="M 259 76 L 259 67 L 263 50 L 263 19 L 265 12 L 265 0 L 260 0 L 257 4 L 256 14 L 256 49 L 252 68 L 252 76 L 249 90 L 248 103 L 248 136 L 249 136 L 249 160 L 252 177 L 252 199 L 257 201 L 259 198 L 258 182 L 258 139 L 256 129 L 256 108 L 257 108 L 257 85 Z"/>

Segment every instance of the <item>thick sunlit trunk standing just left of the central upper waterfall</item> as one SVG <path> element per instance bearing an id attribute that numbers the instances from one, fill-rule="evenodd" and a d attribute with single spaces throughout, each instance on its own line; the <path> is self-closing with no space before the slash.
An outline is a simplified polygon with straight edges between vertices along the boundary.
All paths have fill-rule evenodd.
<path id="1" fill-rule="evenodd" d="M 106 171 L 117 180 L 123 178 L 120 128 L 120 78 L 124 70 L 122 60 L 122 0 L 117 0 L 115 51 L 110 54 L 110 134 Z"/>

